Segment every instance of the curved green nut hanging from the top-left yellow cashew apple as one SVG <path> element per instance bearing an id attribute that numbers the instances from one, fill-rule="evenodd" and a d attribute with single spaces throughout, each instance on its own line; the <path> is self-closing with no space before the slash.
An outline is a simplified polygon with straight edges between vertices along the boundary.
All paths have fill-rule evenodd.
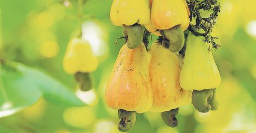
<path id="1" fill-rule="evenodd" d="M 123 34 L 127 37 L 126 45 L 129 49 L 137 48 L 143 41 L 144 29 L 142 25 L 123 25 Z"/>

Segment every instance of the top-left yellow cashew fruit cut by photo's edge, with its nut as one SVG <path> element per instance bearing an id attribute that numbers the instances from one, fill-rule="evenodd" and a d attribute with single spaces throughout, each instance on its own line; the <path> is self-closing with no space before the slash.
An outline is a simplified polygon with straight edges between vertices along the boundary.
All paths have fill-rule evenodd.
<path id="1" fill-rule="evenodd" d="M 128 48 L 137 48 L 143 41 L 142 25 L 150 21 L 149 0 L 114 0 L 110 10 L 114 25 L 123 26 Z"/>

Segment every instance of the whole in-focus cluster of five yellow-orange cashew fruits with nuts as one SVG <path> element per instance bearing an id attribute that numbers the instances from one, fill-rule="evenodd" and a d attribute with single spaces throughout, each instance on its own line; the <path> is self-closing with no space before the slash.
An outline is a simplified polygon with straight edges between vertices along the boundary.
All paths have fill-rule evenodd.
<path id="1" fill-rule="evenodd" d="M 185 0 L 114 0 L 111 21 L 123 26 L 126 44 L 120 49 L 106 87 L 108 107 L 118 110 L 118 129 L 133 127 L 136 114 L 160 112 L 163 122 L 176 127 L 179 107 L 192 103 L 200 112 L 216 110 L 216 87 L 221 77 L 209 51 L 210 44 L 188 34 L 184 64 L 179 51 L 190 24 Z M 149 51 L 144 28 L 162 36 Z"/>

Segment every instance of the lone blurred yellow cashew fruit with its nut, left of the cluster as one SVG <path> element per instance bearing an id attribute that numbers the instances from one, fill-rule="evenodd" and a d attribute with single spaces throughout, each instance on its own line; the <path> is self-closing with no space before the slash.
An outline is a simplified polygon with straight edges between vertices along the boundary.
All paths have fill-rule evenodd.
<path id="1" fill-rule="evenodd" d="M 90 72 L 97 69 L 98 59 L 94 55 L 88 41 L 83 38 L 72 38 L 63 59 L 63 68 L 74 75 L 82 91 L 92 89 Z"/>

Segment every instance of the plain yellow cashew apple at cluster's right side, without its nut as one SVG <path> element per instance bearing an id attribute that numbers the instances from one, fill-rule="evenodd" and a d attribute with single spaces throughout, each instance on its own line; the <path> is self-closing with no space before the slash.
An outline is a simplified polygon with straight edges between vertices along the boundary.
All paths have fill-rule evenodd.
<path id="1" fill-rule="evenodd" d="M 209 44 L 202 37 L 188 34 L 184 65 L 180 72 L 180 85 L 185 90 L 204 90 L 217 88 L 221 76 Z"/>

